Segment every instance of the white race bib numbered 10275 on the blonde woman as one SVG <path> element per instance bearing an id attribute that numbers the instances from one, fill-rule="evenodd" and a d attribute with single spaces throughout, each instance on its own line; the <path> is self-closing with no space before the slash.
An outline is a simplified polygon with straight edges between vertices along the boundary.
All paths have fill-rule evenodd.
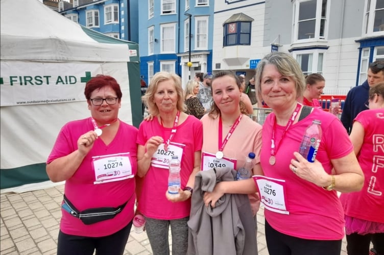
<path id="1" fill-rule="evenodd" d="M 185 144 L 171 142 L 165 151 L 164 143 L 160 144 L 151 158 L 151 165 L 168 169 L 172 156 L 177 156 L 181 162 Z"/>

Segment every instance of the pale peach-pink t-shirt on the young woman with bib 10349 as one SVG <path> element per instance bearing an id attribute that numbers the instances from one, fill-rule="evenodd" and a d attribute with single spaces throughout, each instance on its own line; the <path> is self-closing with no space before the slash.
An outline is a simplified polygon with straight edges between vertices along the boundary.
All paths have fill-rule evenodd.
<path id="1" fill-rule="evenodd" d="M 201 118 L 203 122 L 203 148 L 202 151 L 215 154 L 219 150 L 219 118 L 212 119 L 208 114 Z M 223 140 L 227 136 L 230 126 L 223 125 Z M 240 123 L 230 136 L 224 147 L 223 153 L 225 157 L 236 159 L 237 166 L 240 168 L 244 165 L 245 159 L 249 152 L 254 152 L 256 158 L 252 161 L 255 165 L 260 162 L 261 148 L 261 125 L 253 121 L 246 115 L 243 115 Z M 251 202 L 253 215 L 259 209 L 260 199 L 258 195 L 248 195 Z"/>

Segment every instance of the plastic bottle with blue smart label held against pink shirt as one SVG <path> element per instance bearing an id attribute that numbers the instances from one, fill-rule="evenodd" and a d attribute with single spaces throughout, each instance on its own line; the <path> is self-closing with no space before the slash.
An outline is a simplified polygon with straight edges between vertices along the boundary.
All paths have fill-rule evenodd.
<path id="1" fill-rule="evenodd" d="M 299 153 L 309 162 L 315 162 L 317 150 L 321 142 L 321 121 L 315 119 L 305 130 L 301 140 Z"/>

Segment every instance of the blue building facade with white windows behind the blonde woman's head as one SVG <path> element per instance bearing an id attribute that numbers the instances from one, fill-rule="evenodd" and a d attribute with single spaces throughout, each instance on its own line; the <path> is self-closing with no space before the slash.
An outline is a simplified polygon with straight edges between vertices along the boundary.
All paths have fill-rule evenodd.
<path id="1" fill-rule="evenodd" d="M 140 73 L 147 84 L 158 71 L 179 74 L 183 84 L 196 72 L 212 71 L 213 5 L 213 0 L 139 2 Z"/>

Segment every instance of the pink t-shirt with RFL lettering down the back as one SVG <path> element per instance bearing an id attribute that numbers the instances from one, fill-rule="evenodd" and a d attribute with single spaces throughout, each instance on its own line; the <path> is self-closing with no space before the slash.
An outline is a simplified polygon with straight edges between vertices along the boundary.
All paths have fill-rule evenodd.
<path id="1" fill-rule="evenodd" d="M 346 215 L 384 223 L 384 109 L 363 111 L 354 121 L 360 122 L 365 132 L 357 155 L 364 186 L 360 192 L 342 194 L 340 200 Z"/>

